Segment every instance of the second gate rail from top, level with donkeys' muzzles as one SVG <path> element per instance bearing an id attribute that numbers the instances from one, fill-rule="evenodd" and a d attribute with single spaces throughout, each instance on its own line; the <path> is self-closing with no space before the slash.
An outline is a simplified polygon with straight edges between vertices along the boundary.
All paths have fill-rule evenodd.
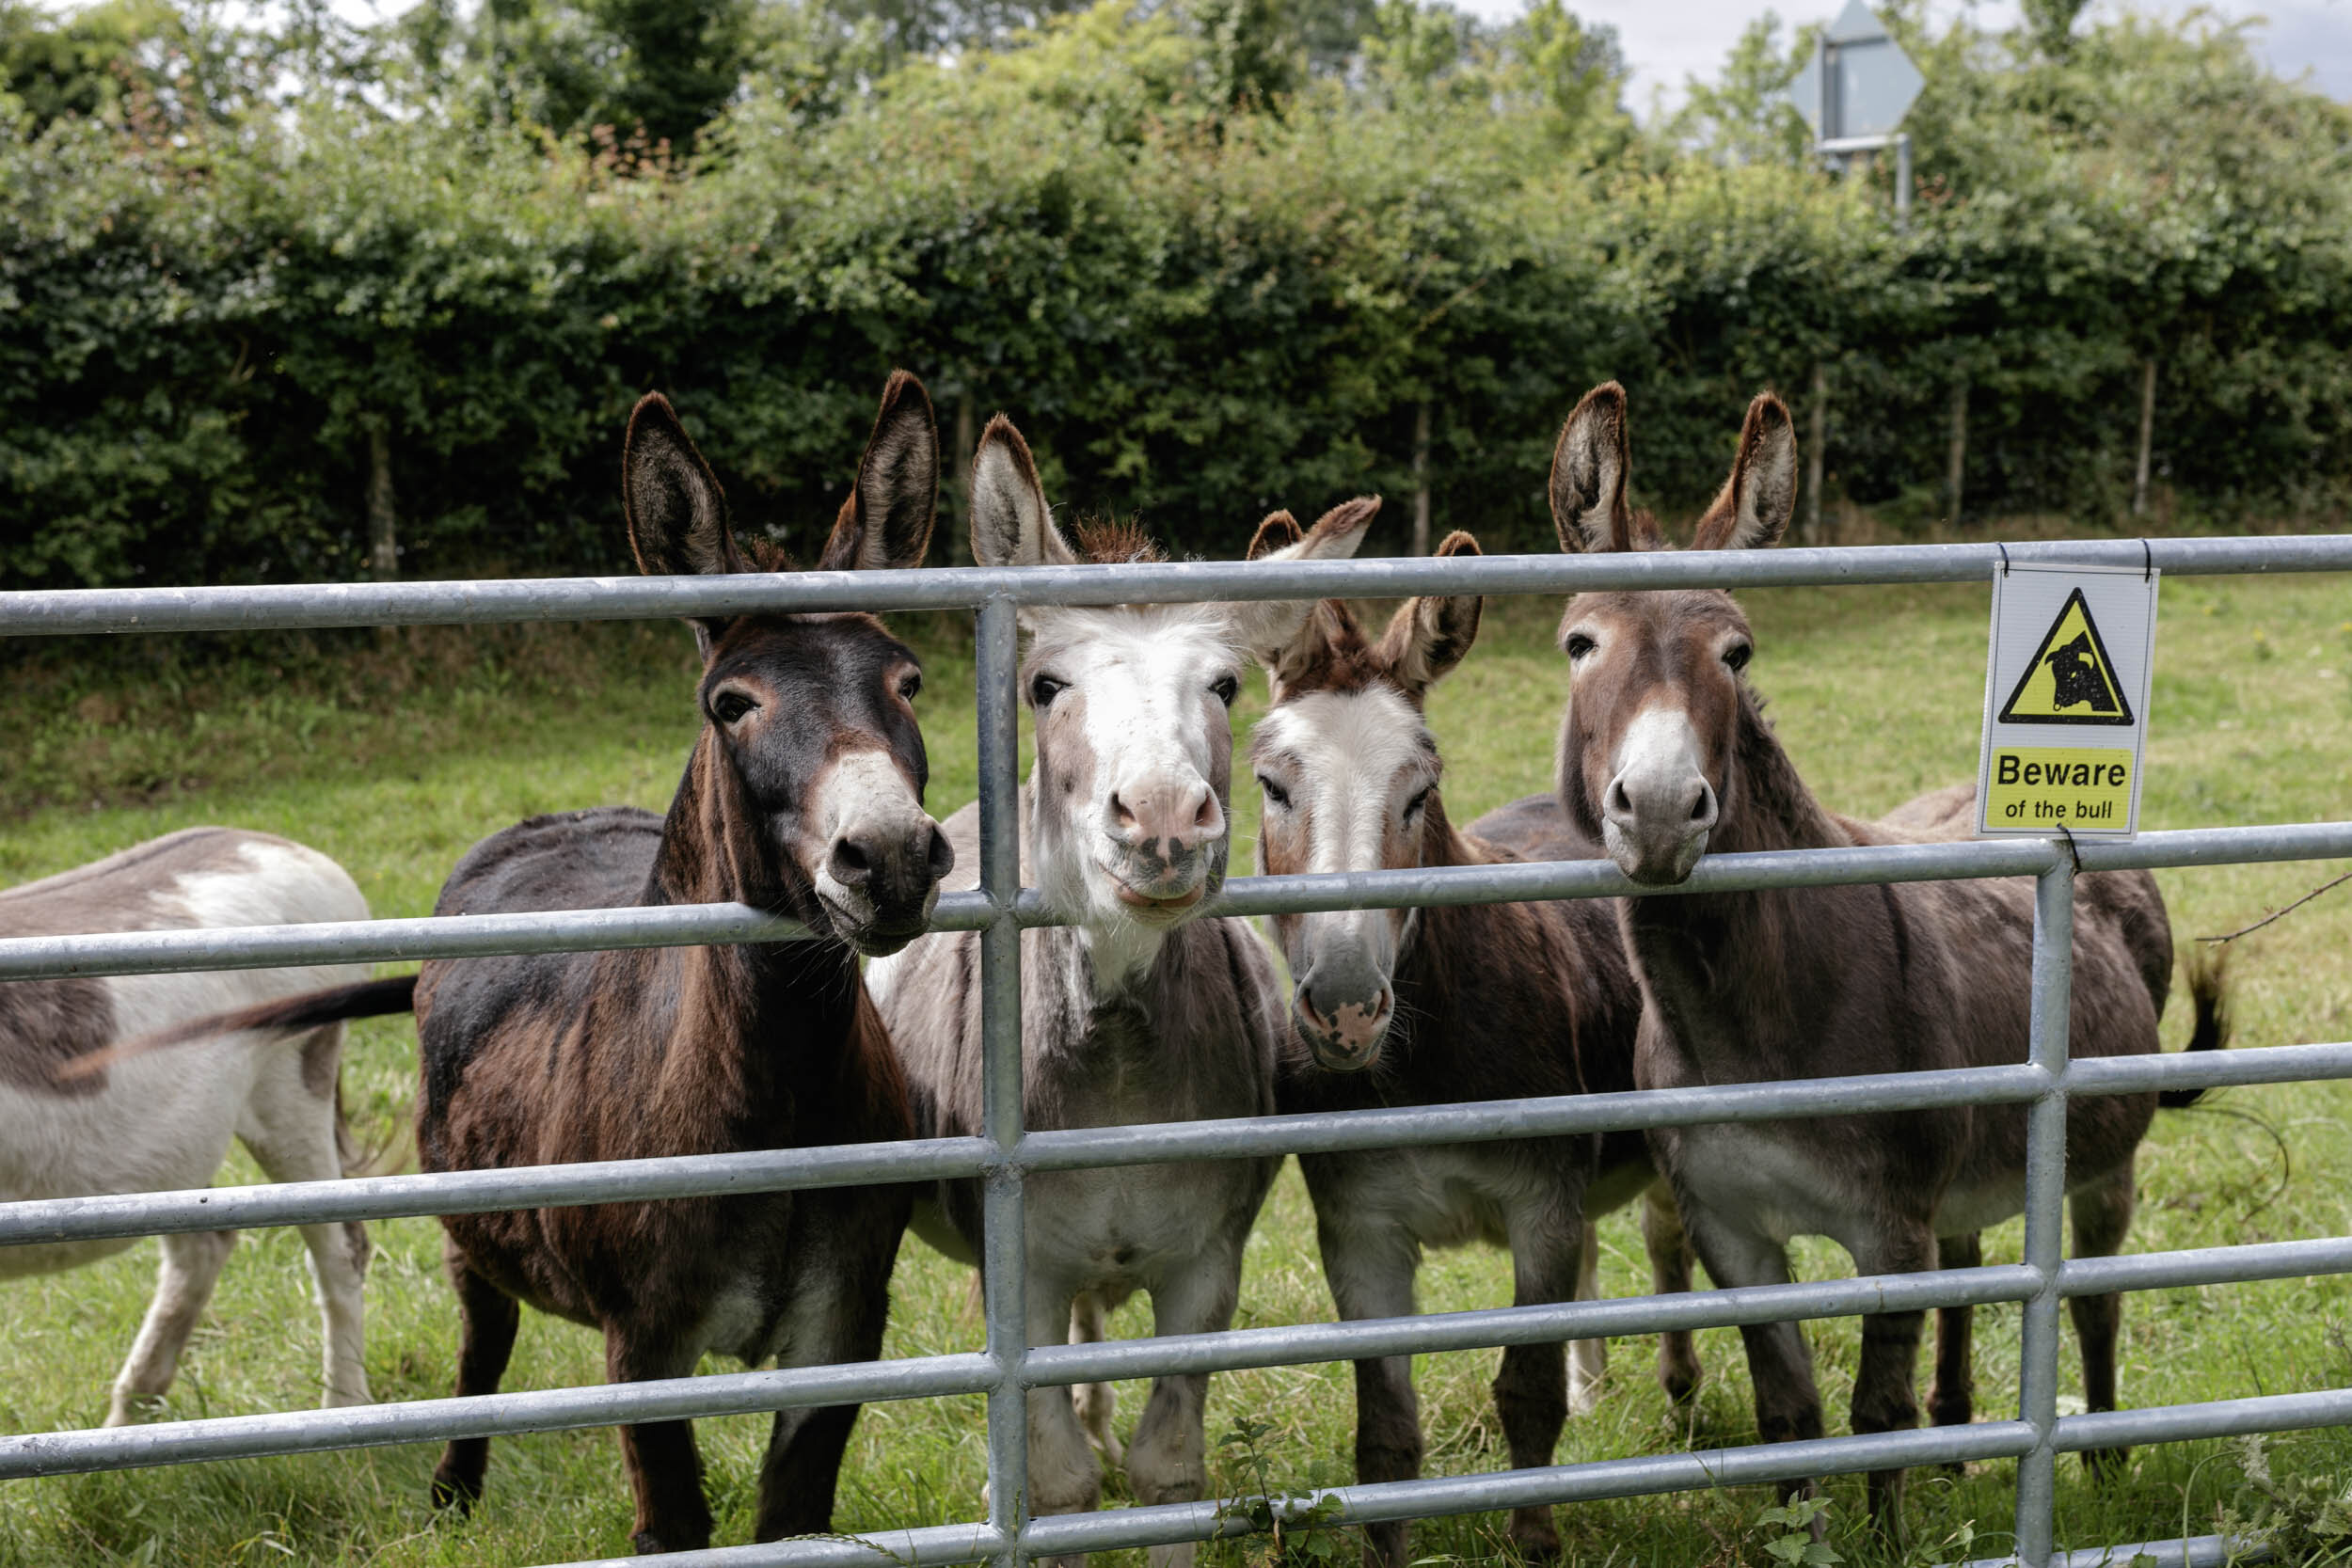
<path id="1" fill-rule="evenodd" d="M 1842 886 L 1860 882 L 1945 882 L 2032 877 L 2063 853 L 2049 839 L 1950 844 L 1872 844 L 1856 849 L 1780 849 L 1708 856 L 1686 882 L 1639 886 L 1609 860 L 1526 860 L 1442 865 L 1406 872 L 1319 872 L 1310 877 L 1237 877 L 1216 914 L 1296 910 L 1385 910 L 1536 898 L 1613 898 L 1733 893 L 1745 889 Z M 2352 858 L 2352 823 L 2284 823 L 2143 832 L 2122 844 L 2082 844 L 2089 870 L 2157 865 L 2232 865 L 2256 860 Z M 1063 924 L 1035 889 L 1023 889 L 1016 917 L 1028 926 Z M 941 893 L 934 931 L 978 931 L 990 919 L 981 893 Z M 214 969 L 285 969 L 303 964 L 397 964 L 506 952 L 586 952 L 602 947 L 691 947 L 703 943 L 781 943 L 807 931 L 739 903 L 534 914 L 445 914 L 428 919 L 318 922 L 303 926 L 209 926 L 200 931 L 125 931 L 21 936 L 0 940 L 0 980 L 101 973 L 174 973 Z"/>

